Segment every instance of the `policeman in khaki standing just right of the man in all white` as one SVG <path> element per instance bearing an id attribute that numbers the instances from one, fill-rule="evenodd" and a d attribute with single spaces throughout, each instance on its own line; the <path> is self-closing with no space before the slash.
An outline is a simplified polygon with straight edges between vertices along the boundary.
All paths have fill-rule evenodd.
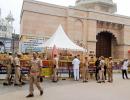
<path id="1" fill-rule="evenodd" d="M 88 57 L 83 62 L 83 82 L 88 82 Z"/>

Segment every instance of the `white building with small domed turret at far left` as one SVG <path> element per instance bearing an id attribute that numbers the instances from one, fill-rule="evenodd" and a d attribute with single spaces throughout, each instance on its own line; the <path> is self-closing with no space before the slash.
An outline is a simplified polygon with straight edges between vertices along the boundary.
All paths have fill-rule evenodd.
<path id="1" fill-rule="evenodd" d="M 12 51 L 13 21 L 11 12 L 2 18 L 0 9 L 0 53 Z"/>

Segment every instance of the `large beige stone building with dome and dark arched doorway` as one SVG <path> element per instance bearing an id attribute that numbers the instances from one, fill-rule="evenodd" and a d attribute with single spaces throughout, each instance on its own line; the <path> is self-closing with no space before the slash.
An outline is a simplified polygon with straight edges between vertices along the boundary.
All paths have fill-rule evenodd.
<path id="1" fill-rule="evenodd" d="M 77 0 L 73 7 L 63 7 L 24 0 L 21 34 L 51 36 L 62 24 L 71 40 L 96 56 L 128 57 L 130 17 L 115 14 L 112 0 Z"/>

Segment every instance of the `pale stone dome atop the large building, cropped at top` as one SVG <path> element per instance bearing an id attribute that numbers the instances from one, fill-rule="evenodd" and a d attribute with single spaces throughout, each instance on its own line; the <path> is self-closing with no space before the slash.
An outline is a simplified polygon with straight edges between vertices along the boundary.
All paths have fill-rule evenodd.
<path id="1" fill-rule="evenodd" d="M 84 10 L 95 10 L 108 13 L 117 11 L 117 5 L 113 0 L 77 0 L 75 7 Z"/>

